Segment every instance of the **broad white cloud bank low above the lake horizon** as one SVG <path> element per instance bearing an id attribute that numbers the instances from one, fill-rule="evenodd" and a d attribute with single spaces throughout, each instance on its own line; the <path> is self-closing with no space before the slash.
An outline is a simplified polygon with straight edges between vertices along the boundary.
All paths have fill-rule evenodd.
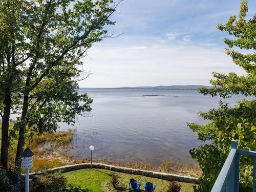
<path id="1" fill-rule="evenodd" d="M 212 71 L 244 74 L 224 52 L 214 46 L 144 45 L 136 39 L 131 46 L 98 45 L 89 51 L 91 59 L 83 59 L 84 69 L 93 74 L 80 87 L 207 85 Z"/>

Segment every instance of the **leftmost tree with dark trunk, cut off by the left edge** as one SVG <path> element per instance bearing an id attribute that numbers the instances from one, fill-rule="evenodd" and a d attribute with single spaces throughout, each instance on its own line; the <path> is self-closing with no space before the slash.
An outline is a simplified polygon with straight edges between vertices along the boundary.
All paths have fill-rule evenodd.
<path id="1" fill-rule="evenodd" d="M 18 68 L 24 63 L 22 45 L 25 36 L 19 34 L 19 9 L 21 2 L 0 3 L 0 115 L 2 117 L 1 163 L 7 169 L 9 119 L 13 106 L 18 103 L 17 89 L 20 82 Z M 18 43 L 16 43 L 18 42 Z"/>

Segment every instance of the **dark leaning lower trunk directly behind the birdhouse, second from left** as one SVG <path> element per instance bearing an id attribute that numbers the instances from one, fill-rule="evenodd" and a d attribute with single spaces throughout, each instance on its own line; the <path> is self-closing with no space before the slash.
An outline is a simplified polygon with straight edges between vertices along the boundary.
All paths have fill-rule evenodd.
<path id="1" fill-rule="evenodd" d="M 23 99 L 22 117 L 20 118 L 21 123 L 18 125 L 19 127 L 18 144 L 17 144 L 17 151 L 16 151 L 16 157 L 15 157 L 15 167 L 18 174 L 20 173 L 20 164 L 21 164 L 20 156 L 22 155 L 23 146 L 25 144 L 24 133 L 25 133 L 25 127 L 26 127 L 25 121 L 26 121 L 26 116 L 28 112 L 28 100 L 29 100 L 29 94 L 25 93 L 24 99 Z"/>

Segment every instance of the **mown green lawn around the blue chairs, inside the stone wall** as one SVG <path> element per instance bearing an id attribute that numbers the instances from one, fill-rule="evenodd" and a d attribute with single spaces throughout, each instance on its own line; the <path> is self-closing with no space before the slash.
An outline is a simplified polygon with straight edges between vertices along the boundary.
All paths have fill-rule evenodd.
<path id="1" fill-rule="evenodd" d="M 104 185 L 111 179 L 111 174 L 113 172 L 110 170 L 104 169 L 80 169 L 74 170 L 73 172 L 65 173 L 65 177 L 68 180 L 69 184 L 73 186 L 80 186 L 81 189 L 87 192 L 105 192 L 108 191 Z M 146 182 L 150 181 L 152 183 L 156 183 L 156 192 L 164 192 L 167 190 L 168 181 L 155 179 L 150 177 L 144 177 L 139 175 L 131 175 L 131 174 L 124 174 L 124 173 L 117 173 L 120 176 L 120 182 L 126 184 L 126 190 L 128 191 L 129 188 L 129 180 L 131 178 L 136 179 L 138 182 Z M 190 183 L 182 183 L 179 182 L 181 185 L 181 191 L 193 191 L 193 185 Z M 142 183 L 140 187 L 140 191 L 144 191 L 144 183 Z"/>

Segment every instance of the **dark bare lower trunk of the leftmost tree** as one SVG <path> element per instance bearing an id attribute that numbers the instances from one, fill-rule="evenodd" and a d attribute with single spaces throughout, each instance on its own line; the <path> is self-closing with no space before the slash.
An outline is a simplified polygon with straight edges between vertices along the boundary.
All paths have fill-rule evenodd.
<path id="1" fill-rule="evenodd" d="M 9 132 L 9 119 L 11 110 L 11 94 L 9 90 L 6 91 L 4 99 L 5 109 L 2 118 L 2 140 L 1 140 L 1 164 L 5 169 L 8 168 L 8 132 Z"/>

